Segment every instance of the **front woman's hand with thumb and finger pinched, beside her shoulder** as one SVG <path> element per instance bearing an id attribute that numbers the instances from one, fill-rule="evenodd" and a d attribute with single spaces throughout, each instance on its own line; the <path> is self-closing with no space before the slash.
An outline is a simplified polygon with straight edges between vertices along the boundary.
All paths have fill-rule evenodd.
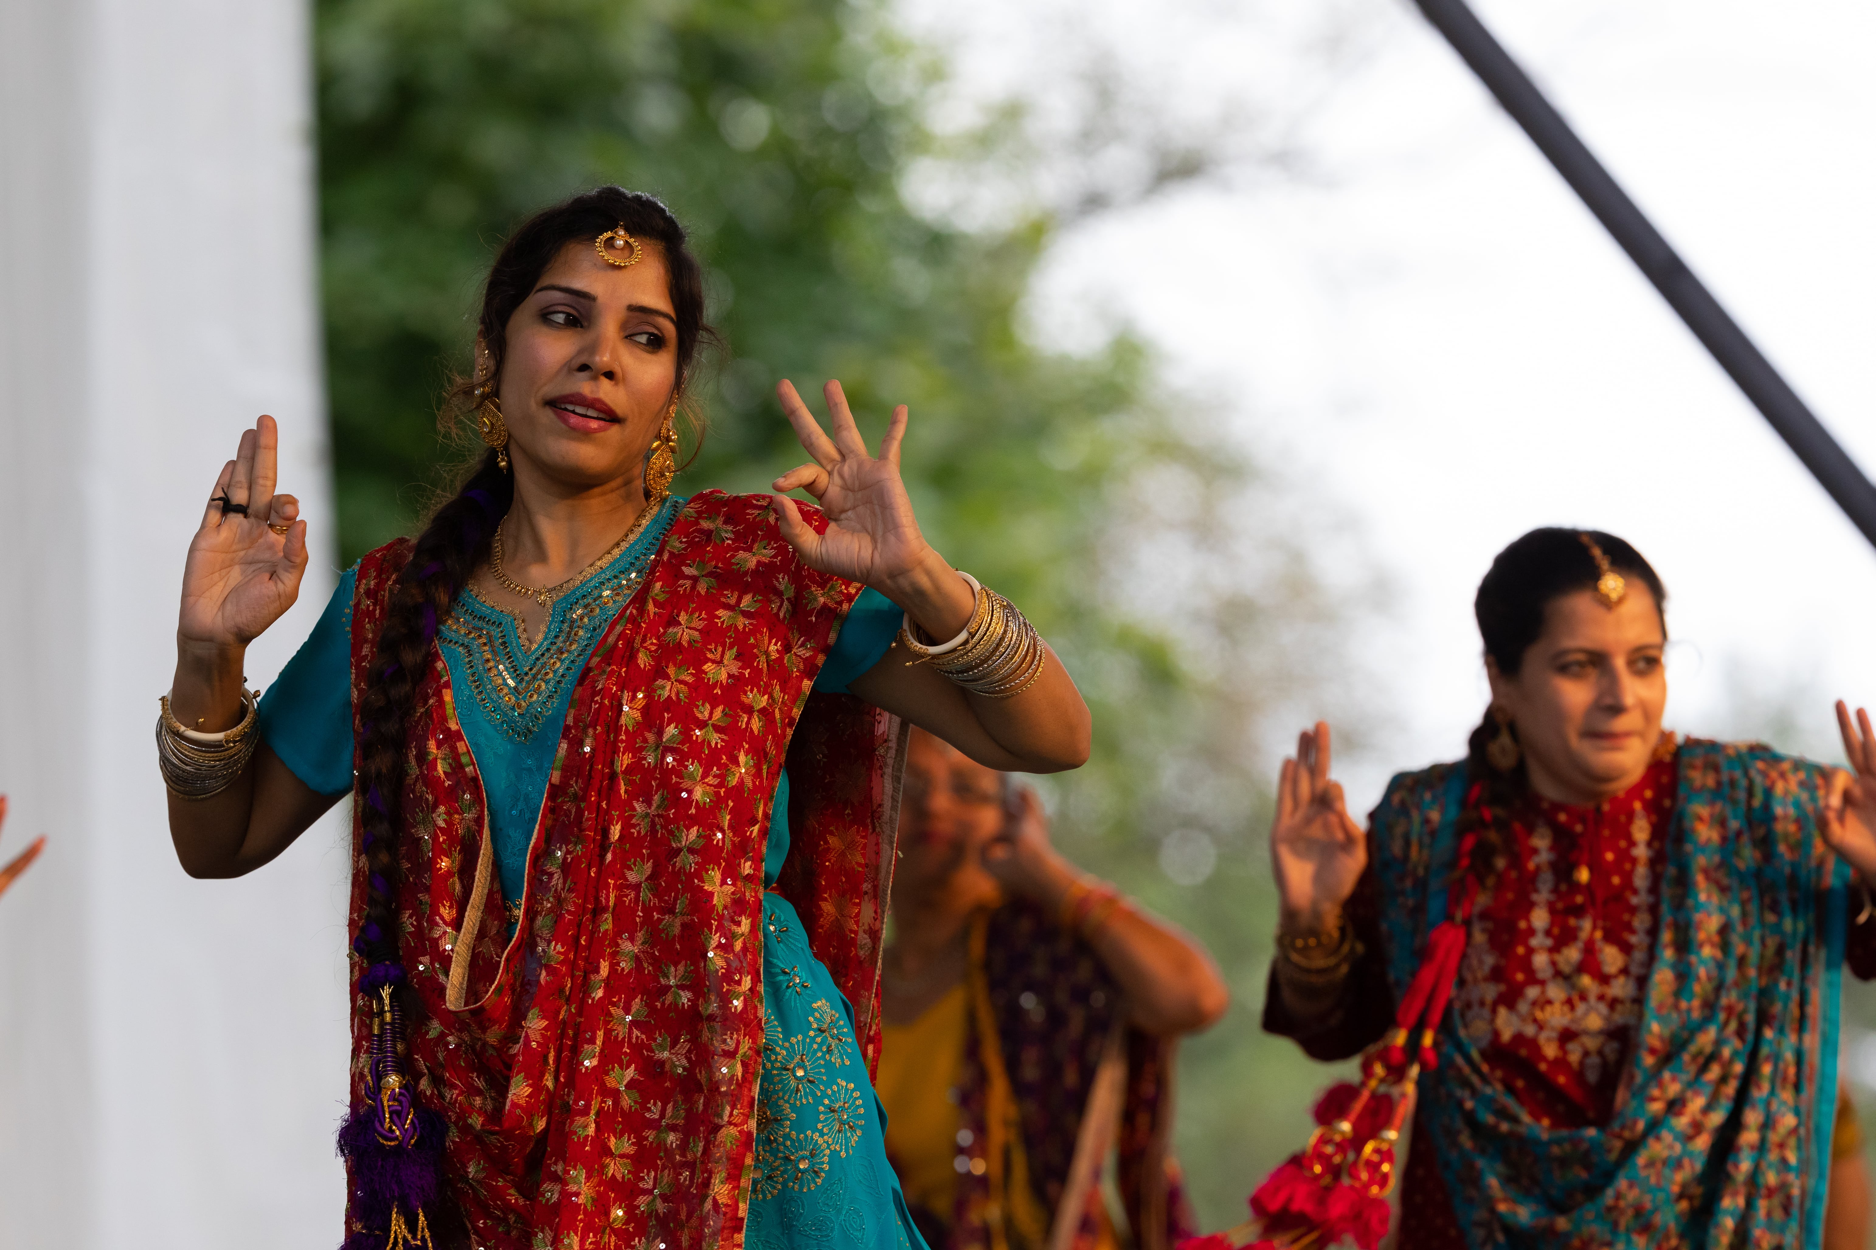
<path id="1" fill-rule="evenodd" d="M 867 452 L 854 412 L 846 407 L 840 382 L 827 382 L 829 437 L 801 403 L 794 382 L 775 388 L 812 465 L 792 469 L 775 480 L 777 491 L 803 489 L 827 513 L 827 532 L 816 534 L 801 519 L 795 500 L 777 493 L 782 538 L 801 553 L 801 560 L 822 573 L 865 583 L 878 590 L 915 573 L 932 555 L 912 515 L 912 499 L 899 478 L 899 444 L 906 437 L 906 405 L 893 409 L 893 420 L 880 440 L 880 455 Z"/>

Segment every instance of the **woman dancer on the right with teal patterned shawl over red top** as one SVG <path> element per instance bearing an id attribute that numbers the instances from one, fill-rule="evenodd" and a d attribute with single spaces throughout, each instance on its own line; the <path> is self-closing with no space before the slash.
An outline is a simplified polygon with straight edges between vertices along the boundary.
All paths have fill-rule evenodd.
<path id="1" fill-rule="evenodd" d="M 1463 763 L 1396 776 L 1366 838 L 1326 725 L 1283 763 L 1264 1027 L 1366 1049 L 1383 1091 L 1418 1072 L 1399 1250 L 1820 1244 L 1840 965 L 1876 973 L 1850 871 L 1876 879 L 1876 735 L 1837 705 L 1852 776 L 1664 733 L 1664 603 L 1626 542 L 1533 530 L 1478 587 Z M 1371 1246 L 1386 1104 L 1319 1115 L 1261 1237 Z"/>

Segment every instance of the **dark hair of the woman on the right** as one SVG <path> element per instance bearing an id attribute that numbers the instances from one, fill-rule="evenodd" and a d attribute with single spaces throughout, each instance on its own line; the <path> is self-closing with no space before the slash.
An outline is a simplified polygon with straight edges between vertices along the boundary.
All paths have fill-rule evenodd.
<path id="1" fill-rule="evenodd" d="M 1544 635 L 1544 613 L 1551 602 L 1596 587 L 1602 570 L 1583 543 L 1585 534 L 1608 557 L 1611 570 L 1623 577 L 1640 579 L 1649 588 L 1657 611 L 1668 607 L 1668 590 L 1660 585 L 1655 568 L 1615 534 L 1557 527 L 1531 530 L 1491 560 L 1491 568 L 1473 598 L 1473 617 L 1478 620 L 1478 637 L 1486 645 L 1486 656 L 1505 677 L 1518 677 L 1523 669 L 1525 652 Z M 1666 617 L 1662 630 L 1666 632 Z M 1508 731 L 1516 738 L 1516 727 Z M 1486 748 L 1495 737 L 1499 737 L 1499 720 L 1491 708 L 1486 708 L 1478 729 L 1467 738 L 1465 753 L 1467 781 L 1480 787 L 1480 802 L 1469 804 L 1460 817 L 1461 836 L 1478 830 L 1484 855 L 1475 855 L 1473 862 L 1488 875 L 1495 871 L 1505 849 L 1497 830 L 1482 826 L 1478 810 L 1508 811 L 1529 787 L 1521 755 L 1510 772 L 1501 772 L 1486 757 Z"/>

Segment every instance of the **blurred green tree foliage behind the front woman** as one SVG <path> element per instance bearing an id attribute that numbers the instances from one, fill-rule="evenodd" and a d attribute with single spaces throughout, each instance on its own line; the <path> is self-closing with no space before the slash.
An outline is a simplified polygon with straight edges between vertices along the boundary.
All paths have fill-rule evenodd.
<path id="1" fill-rule="evenodd" d="M 884 6 L 319 0 L 315 21 L 345 560 L 409 530 L 445 476 L 437 397 L 467 365 L 503 232 L 600 182 L 660 195 L 734 349 L 677 489 L 764 489 L 801 461 L 779 377 L 810 395 L 839 377 L 874 435 L 910 403 L 906 476 L 932 542 L 1011 594 L 1082 682 L 1097 746 L 1051 787 L 1062 841 L 1234 973 L 1240 1006 L 1188 1063 L 1189 1085 L 1216 1089 L 1188 1102 L 1182 1141 L 1208 1220 L 1236 1222 L 1309 1085 L 1251 1016 L 1270 900 L 1248 766 L 1270 710 L 1321 688 L 1336 603 L 1263 525 L 1272 485 L 1216 409 L 1169 395 L 1126 334 L 1084 354 L 1024 337 L 1049 214 L 966 231 L 908 206 L 912 163 L 959 144 L 925 112 L 942 64 Z M 1017 118 L 968 139 L 1007 157 Z"/>

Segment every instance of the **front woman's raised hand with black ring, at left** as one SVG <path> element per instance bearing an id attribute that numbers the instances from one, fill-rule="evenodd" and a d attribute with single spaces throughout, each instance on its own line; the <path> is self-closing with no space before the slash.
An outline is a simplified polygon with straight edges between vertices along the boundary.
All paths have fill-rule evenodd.
<path id="1" fill-rule="evenodd" d="M 263 416 L 242 431 L 234 459 L 216 478 L 182 570 L 176 641 L 184 650 L 240 650 L 300 596 L 306 521 L 298 519 L 300 500 L 274 495 L 278 448 L 274 418 Z M 234 510 L 223 512 L 221 499 Z"/>

